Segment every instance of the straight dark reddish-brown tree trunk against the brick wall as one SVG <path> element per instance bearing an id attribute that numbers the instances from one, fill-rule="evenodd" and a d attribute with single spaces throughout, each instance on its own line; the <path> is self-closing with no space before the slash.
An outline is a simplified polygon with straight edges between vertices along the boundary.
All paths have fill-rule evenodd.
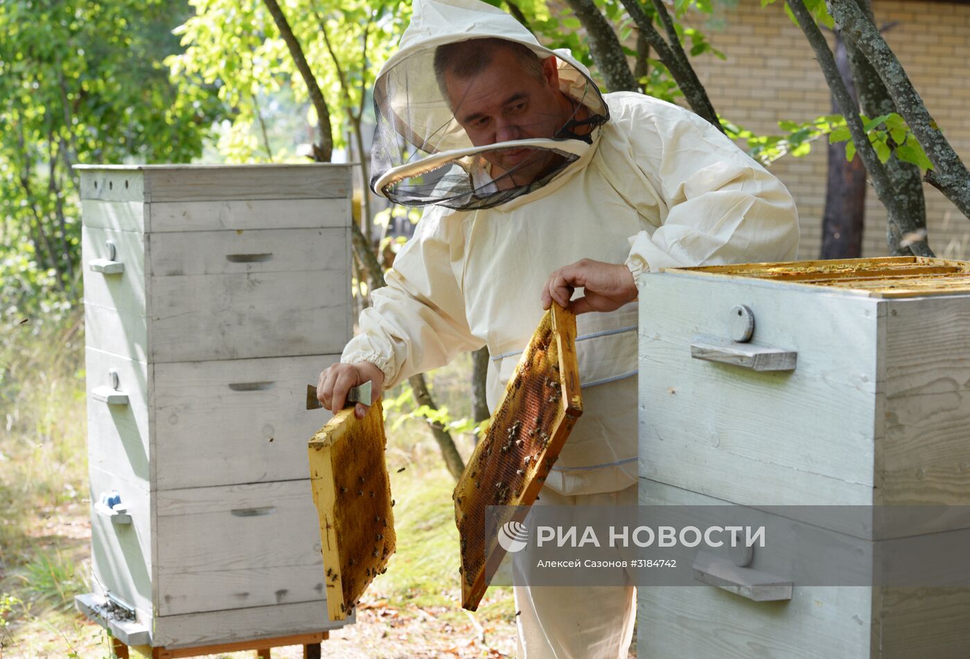
<path id="1" fill-rule="evenodd" d="M 853 84 L 845 42 L 835 30 L 835 64 L 854 100 Z M 832 112 L 839 106 L 832 99 Z M 855 259 L 862 256 L 862 231 L 865 220 L 865 166 L 861 158 L 846 160 L 845 145 L 828 145 L 828 181 L 825 185 L 825 210 L 822 216 L 822 258 Z M 908 252 L 909 250 L 907 250 Z"/>

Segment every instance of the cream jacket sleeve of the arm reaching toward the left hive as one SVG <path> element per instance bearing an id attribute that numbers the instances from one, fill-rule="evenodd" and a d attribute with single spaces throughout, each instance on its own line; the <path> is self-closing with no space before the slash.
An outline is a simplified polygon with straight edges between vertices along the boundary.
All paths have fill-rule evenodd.
<path id="1" fill-rule="evenodd" d="M 360 333 L 340 361 L 370 361 L 384 372 L 384 389 L 442 366 L 484 342 L 469 331 L 465 302 L 452 269 L 447 211 L 428 208 L 385 275 L 387 286 L 372 292 L 373 306 L 360 317 Z"/>

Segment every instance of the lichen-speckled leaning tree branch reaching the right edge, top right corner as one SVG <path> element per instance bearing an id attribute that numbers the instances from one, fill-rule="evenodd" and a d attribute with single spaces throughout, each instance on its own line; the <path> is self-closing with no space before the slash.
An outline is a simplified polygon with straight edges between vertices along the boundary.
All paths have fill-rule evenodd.
<path id="1" fill-rule="evenodd" d="M 882 78 L 899 114 L 906 119 L 920 141 L 926 157 L 935 167 L 927 180 L 938 187 L 960 212 L 970 219 L 970 171 L 956 155 L 950 141 L 926 110 L 920 94 L 906 75 L 895 53 L 856 0 L 826 0 L 828 11 L 842 26 Z"/>

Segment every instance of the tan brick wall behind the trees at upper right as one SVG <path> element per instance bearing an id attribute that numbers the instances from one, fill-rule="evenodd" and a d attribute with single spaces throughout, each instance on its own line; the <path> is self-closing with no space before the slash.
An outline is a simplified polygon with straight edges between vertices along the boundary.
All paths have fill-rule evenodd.
<path id="1" fill-rule="evenodd" d="M 873 11 L 877 24 L 898 21 L 885 33 L 886 40 L 970 165 L 970 3 L 873 0 Z M 723 116 L 763 134 L 778 134 L 780 119 L 804 121 L 831 111 L 814 53 L 781 0 L 763 9 L 760 0 L 737 0 L 704 31 L 727 55 L 726 61 L 709 54 L 694 60 Z M 826 170 L 824 141 L 815 142 L 808 156 L 786 156 L 771 167 L 798 204 L 801 259 L 819 256 Z M 941 257 L 970 259 L 970 220 L 936 189 L 924 189 L 930 246 Z M 872 189 L 865 212 L 864 256 L 886 255 L 886 210 Z"/>

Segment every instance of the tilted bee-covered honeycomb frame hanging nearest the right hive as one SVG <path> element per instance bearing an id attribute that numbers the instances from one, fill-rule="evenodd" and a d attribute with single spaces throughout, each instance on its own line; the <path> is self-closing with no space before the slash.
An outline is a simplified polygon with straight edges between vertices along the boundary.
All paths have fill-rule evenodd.
<path id="1" fill-rule="evenodd" d="M 531 506 L 582 414 L 575 342 L 575 316 L 554 303 L 533 333 L 455 487 L 462 606 L 469 611 L 478 608 L 505 554 L 497 537 L 487 535 L 488 507 Z M 524 517 L 522 508 L 504 510 L 509 519 L 503 521 Z"/>

